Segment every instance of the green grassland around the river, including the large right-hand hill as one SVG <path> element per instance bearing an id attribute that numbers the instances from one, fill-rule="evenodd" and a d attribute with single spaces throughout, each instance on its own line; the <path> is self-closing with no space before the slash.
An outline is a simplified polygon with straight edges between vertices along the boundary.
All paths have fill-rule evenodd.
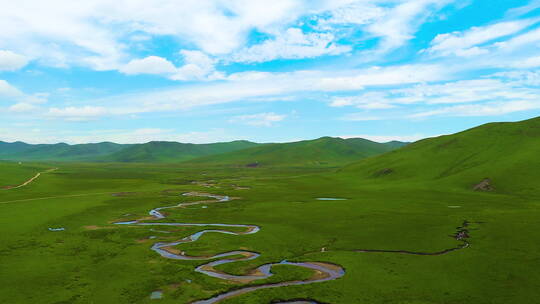
<path id="1" fill-rule="evenodd" d="M 490 124 L 340 169 L 0 163 L 4 184 L 59 167 L 26 187 L 0 192 L 0 302 L 190 303 L 244 286 L 194 272 L 206 261 L 170 260 L 150 250 L 156 241 L 180 239 L 201 227 L 167 227 L 173 232 L 167 234 L 112 224 L 147 216 L 155 207 L 200 200 L 180 194 L 203 191 L 238 199 L 206 209 L 167 209 L 167 221 L 255 224 L 261 230 L 206 234 L 179 246 L 188 254 L 261 253 L 218 267 L 236 274 L 284 259 L 330 262 L 346 270 L 335 281 L 259 290 L 220 303 L 539 303 L 538 125 L 538 119 Z M 486 177 L 494 190 L 473 191 Z M 451 235 L 465 220 L 470 247 L 445 255 L 356 252 L 453 248 L 459 242 Z M 293 266 L 274 271 L 251 284 L 312 275 Z M 162 299 L 150 299 L 155 290 L 164 292 Z"/>

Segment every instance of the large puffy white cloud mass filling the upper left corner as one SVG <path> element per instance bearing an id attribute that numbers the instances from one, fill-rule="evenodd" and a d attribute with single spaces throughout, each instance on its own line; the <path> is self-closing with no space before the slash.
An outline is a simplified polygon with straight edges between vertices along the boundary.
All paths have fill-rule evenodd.
<path id="1" fill-rule="evenodd" d="M 130 59 L 130 43 L 141 36 L 172 36 L 205 53 L 239 48 L 252 29 L 271 31 L 305 13 L 296 0 L 147 1 L 67 0 L 2 3 L 0 48 L 40 63 L 113 70 Z M 134 38 L 134 39 L 131 39 Z M 147 40 L 149 41 L 149 40 Z"/>

